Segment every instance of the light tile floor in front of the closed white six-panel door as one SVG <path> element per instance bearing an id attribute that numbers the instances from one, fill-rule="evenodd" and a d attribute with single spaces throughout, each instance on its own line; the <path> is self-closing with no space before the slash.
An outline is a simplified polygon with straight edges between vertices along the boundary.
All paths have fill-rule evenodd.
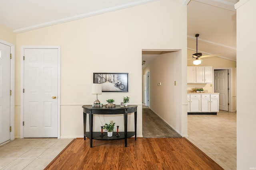
<path id="1" fill-rule="evenodd" d="M 0 145 L 0 170 L 43 170 L 72 140 L 25 138 Z"/>

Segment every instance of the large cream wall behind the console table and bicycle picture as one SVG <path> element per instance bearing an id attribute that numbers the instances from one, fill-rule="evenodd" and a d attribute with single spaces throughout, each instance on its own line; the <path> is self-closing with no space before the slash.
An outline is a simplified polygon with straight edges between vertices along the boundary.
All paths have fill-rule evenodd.
<path id="1" fill-rule="evenodd" d="M 123 96 L 130 104 L 138 105 L 138 136 L 142 136 L 142 49 L 181 49 L 176 65 L 186 67 L 186 6 L 179 0 L 160 0 L 110 12 L 90 18 L 36 29 L 17 35 L 16 55 L 16 105 L 20 106 L 20 50 L 22 45 L 60 45 L 61 47 L 61 137 L 83 137 L 82 105 L 92 104 L 93 72 L 128 72 L 129 92 L 105 92 L 99 100 L 114 98 L 116 104 Z M 186 72 L 182 72 L 185 74 Z M 183 76 L 183 77 L 184 77 Z M 185 78 L 177 80 L 179 105 L 176 109 L 186 115 Z M 183 102 L 182 102 L 183 101 Z M 182 105 L 184 104 L 184 105 Z M 168 107 L 168 106 L 165 106 Z M 16 112 L 19 113 L 17 110 Z M 183 117 L 184 117 L 183 115 Z M 133 129 L 133 115 L 129 115 Z M 186 117 L 180 116 L 177 129 L 187 135 Z M 16 119 L 19 119 L 17 116 Z M 114 120 L 123 127 L 122 116 L 95 116 L 94 130 L 100 131 L 102 123 Z M 19 136 L 19 134 L 16 134 Z"/>

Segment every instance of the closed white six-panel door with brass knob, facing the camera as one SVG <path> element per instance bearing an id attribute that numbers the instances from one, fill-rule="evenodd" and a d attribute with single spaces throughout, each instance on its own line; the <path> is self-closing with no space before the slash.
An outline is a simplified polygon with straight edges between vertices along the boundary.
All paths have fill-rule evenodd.
<path id="1" fill-rule="evenodd" d="M 58 49 L 24 49 L 24 137 L 58 137 Z"/>

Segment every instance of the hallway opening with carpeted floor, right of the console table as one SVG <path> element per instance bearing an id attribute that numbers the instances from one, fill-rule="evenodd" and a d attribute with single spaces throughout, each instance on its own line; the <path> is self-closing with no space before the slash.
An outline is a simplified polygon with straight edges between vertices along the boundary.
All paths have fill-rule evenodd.
<path id="1" fill-rule="evenodd" d="M 177 71 L 181 65 L 181 54 L 180 50 L 142 50 L 143 137 L 166 137 L 167 134 L 171 135 L 168 137 L 175 137 L 174 134 L 177 134 L 172 120 L 174 117 L 177 118 L 177 110 L 181 109 L 178 106 L 182 106 L 178 104 L 179 100 L 176 97 L 181 99 L 182 96 L 178 95 L 181 93 L 181 86 L 176 86 L 176 82 L 181 82 L 182 78 L 182 72 Z M 169 111 L 166 111 L 166 107 Z M 172 114 L 169 114 L 170 112 Z M 152 123 L 156 123 L 156 129 L 161 129 L 158 133 L 154 133 L 152 129 L 147 130 Z M 167 130 L 169 128 L 174 133 L 170 133 Z"/>

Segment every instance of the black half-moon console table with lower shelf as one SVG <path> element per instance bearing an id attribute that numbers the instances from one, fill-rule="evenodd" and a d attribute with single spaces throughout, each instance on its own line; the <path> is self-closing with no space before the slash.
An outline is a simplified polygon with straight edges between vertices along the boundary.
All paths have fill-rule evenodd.
<path id="1" fill-rule="evenodd" d="M 116 105 L 116 107 L 92 107 L 92 105 L 84 105 L 83 113 L 84 113 L 84 140 L 86 137 L 90 139 L 90 147 L 92 147 L 92 139 L 97 140 L 119 140 L 124 139 L 125 147 L 127 147 L 127 138 L 135 135 L 135 140 L 137 139 L 137 105 L 128 105 L 127 107 L 120 107 L 120 105 Z M 127 132 L 127 115 L 128 113 L 134 113 L 134 132 Z M 89 114 L 89 132 L 86 132 L 86 118 Z M 101 132 L 93 132 L 93 115 L 124 115 L 124 132 L 119 132 L 120 136 L 116 136 L 116 133 L 113 133 L 112 137 L 108 137 L 106 133 L 101 137 Z"/>

